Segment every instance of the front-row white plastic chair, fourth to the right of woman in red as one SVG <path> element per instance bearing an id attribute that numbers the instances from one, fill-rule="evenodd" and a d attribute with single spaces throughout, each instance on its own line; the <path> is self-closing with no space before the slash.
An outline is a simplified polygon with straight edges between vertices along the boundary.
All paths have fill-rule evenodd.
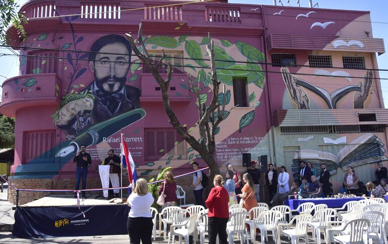
<path id="1" fill-rule="evenodd" d="M 320 244 L 320 230 L 324 231 L 324 238 L 326 242 L 326 229 L 328 228 L 328 222 L 332 218 L 337 217 L 337 212 L 333 208 L 324 208 L 316 210 L 309 225 L 312 230 L 313 239 L 317 238 L 317 243 Z"/>

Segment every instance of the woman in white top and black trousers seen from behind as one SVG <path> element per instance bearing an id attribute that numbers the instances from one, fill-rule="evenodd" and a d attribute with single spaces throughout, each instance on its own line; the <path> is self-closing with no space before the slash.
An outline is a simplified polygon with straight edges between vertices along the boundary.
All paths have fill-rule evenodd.
<path id="1" fill-rule="evenodd" d="M 147 181 L 140 178 L 136 181 L 134 192 L 128 197 L 128 205 L 131 206 L 128 214 L 126 228 L 130 235 L 131 244 L 151 244 L 152 236 L 152 213 L 151 205 L 154 197 L 148 192 Z"/>

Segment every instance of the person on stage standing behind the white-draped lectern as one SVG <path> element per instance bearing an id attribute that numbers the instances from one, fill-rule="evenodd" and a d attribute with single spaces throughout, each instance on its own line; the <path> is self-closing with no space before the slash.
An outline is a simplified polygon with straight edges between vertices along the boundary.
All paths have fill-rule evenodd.
<path id="1" fill-rule="evenodd" d="M 110 165 L 109 170 L 109 188 L 111 187 L 120 187 L 120 180 L 118 174 L 121 171 L 121 159 L 119 156 L 114 154 L 114 150 L 110 149 L 108 151 L 108 157 L 104 159 L 102 165 Z M 119 189 L 109 190 L 108 199 L 113 197 L 119 197 Z"/>

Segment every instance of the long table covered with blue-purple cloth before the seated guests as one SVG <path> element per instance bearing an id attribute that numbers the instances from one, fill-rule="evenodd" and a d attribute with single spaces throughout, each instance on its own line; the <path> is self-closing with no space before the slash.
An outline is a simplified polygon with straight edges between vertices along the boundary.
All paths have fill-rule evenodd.
<path id="1" fill-rule="evenodd" d="M 329 208 L 339 208 L 344 206 L 346 202 L 359 201 L 365 199 L 363 197 L 350 198 L 304 198 L 304 199 L 286 199 L 285 204 L 290 206 L 291 210 L 295 210 L 298 206 L 305 202 L 312 202 L 317 204 L 326 204 Z"/>

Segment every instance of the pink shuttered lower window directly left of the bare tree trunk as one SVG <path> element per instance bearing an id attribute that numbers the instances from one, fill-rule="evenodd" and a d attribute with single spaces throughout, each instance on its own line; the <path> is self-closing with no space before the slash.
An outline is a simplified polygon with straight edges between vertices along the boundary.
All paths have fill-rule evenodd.
<path id="1" fill-rule="evenodd" d="M 175 129 L 145 129 L 145 135 L 146 160 L 187 158 L 186 143 Z"/>

